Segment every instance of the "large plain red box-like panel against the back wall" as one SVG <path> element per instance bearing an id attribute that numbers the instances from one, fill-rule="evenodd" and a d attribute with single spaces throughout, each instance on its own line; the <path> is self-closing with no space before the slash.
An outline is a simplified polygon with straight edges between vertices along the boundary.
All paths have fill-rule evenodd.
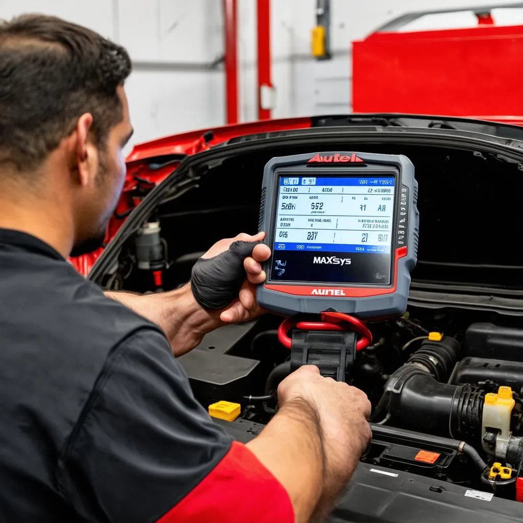
<path id="1" fill-rule="evenodd" d="M 353 42 L 353 110 L 523 124 L 523 26 L 375 32 Z"/>

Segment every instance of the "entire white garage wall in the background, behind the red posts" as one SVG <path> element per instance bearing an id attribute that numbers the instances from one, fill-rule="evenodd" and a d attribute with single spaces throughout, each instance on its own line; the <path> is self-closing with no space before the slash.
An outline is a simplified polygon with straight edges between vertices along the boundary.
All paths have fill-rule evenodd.
<path id="1" fill-rule="evenodd" d="M 310 55 L 315 0 L 271 0 L 275 118 L 350 112 L 350 42 L 409 11 L 505 4 L 504 0 L 331 0 L 333 59 Z M 240 120 L 257 118 L 256 0 L 237 0 Z M 78 22 L 125 46 L 132 143 L 225 123 L 222 0 L 0 0 L 0 18 L 43 12 Z M 496 15 L 495 15 L 496 16 Z M 523 10 L 502 22 L 521 22 Z M 498 17 L 499 18 L 499 17 Z M 475 25 L 470 14 L 420 19 L 412 29 Z M 132 143 L 129 146 L 132 146 Z"/>

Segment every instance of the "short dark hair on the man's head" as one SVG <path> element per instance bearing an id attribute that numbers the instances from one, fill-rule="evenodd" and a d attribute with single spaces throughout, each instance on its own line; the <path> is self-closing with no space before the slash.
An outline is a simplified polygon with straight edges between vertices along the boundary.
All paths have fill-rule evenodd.
<path id="1" fill-rule="evenodd" d="M 1 21 L 0 166 L 36 168 L 85 112 L 104 147 L 122 119 L 117 87 L 130 72 L 125 49 L 84 27 L 44 15 Z"/>

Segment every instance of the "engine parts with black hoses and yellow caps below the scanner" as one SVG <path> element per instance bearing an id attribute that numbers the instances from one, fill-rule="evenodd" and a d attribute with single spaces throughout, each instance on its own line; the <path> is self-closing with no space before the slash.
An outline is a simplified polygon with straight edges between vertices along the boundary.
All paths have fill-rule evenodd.
<path id="1" fill-rule="evenodd" d="M 203 405 L 241 406 L 225 422 L 233 433 L 257 434 L 277 412 L 278 384 L 291 371 L 280 321 L 269 315 L 223 327 L 180 357 Z M 350 379 L 373 405 L 373 438 L 361 461 L 518 498 L 523 329 L 483 322 L 461 331 L 442 314 L 426 322 L 407 313 L 370 326 L 376 341 L 358 353 Z M 456 331 L 433 330 L 435 323 Z"/>

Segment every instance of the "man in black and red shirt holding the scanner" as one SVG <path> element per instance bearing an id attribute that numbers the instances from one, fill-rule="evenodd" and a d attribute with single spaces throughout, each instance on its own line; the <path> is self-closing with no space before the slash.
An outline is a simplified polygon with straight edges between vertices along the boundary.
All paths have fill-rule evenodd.
<path id="1" fill-rule="evenodd" d="M 104 294 L 67 263 L 101 245 L 122 189 L 130 71 L 61 19 L 0 24 L 0 520 L 322 519 L 368 444 L 365 394 L 302 367 L 242 445 L 176 360 L 261 313 L 264 235 L 218 242 L 162 294 Z"/>

